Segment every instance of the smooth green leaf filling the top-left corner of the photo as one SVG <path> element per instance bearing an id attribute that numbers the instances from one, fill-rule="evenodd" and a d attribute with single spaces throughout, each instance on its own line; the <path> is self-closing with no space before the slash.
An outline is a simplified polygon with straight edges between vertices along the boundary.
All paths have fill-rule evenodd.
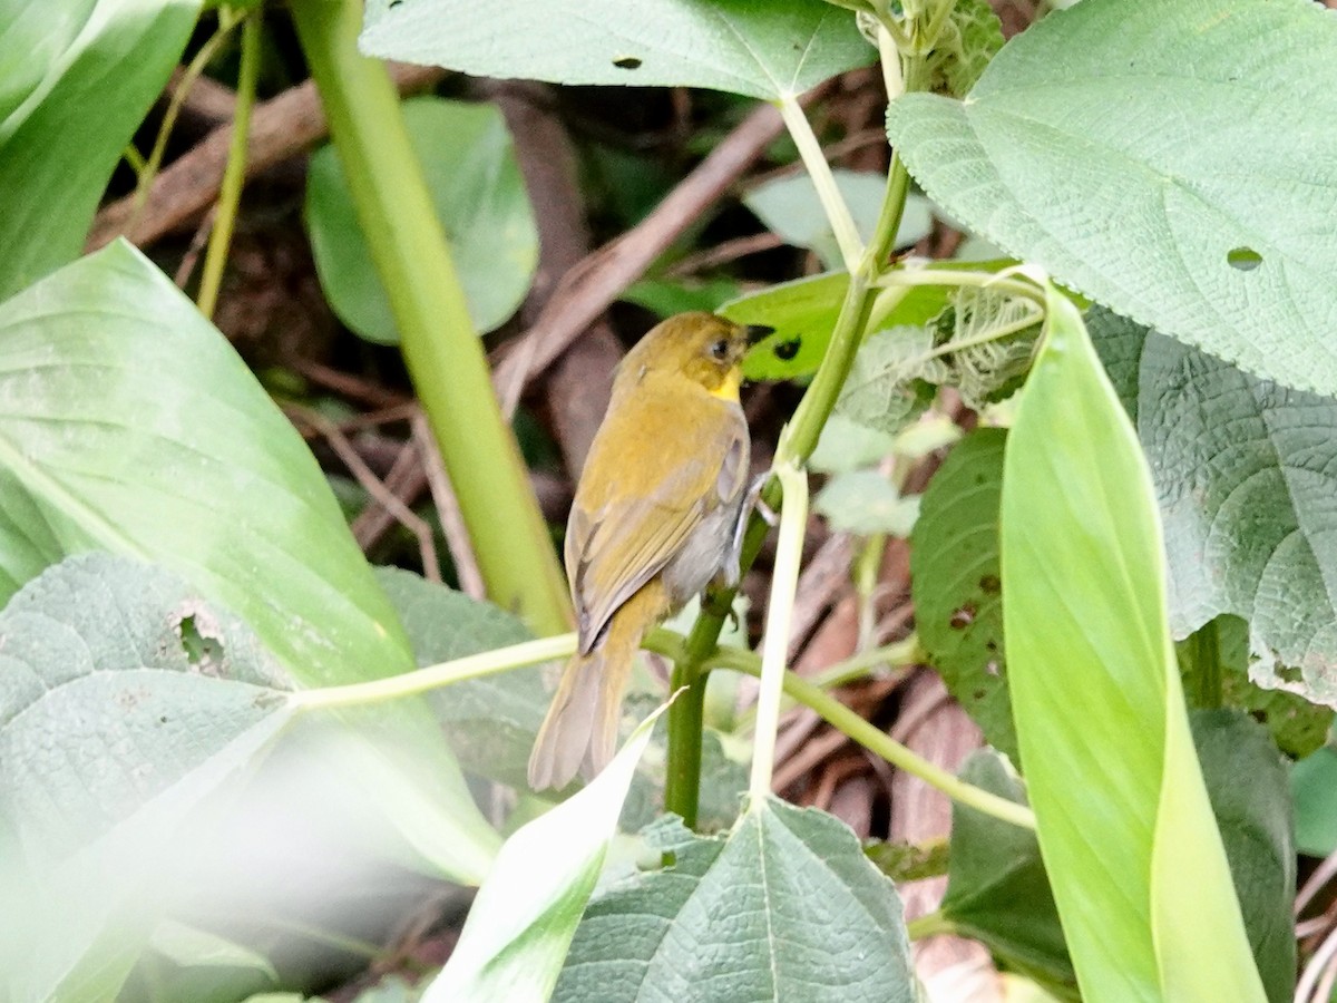
<path id="1" fill-rule="evenodd" d="M 0 4 L 0 300 L 74 259 L 199 0 Z"/>

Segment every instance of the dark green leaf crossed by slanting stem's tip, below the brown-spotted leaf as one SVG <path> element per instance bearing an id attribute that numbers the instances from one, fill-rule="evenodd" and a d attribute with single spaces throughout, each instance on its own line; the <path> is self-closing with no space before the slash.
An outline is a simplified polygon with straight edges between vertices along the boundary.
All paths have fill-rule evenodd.
<path id="1" fill-rule="evenodd" d="M 1024 786 L 997 753 L 973 753 L 960 776 L 1025 804 Z M 1035 833 L 953 804 L 949 861 L 941 909 L 953 927 L 988 947 L 1008 968 L 1074 995 L 1076 976 Z"/>

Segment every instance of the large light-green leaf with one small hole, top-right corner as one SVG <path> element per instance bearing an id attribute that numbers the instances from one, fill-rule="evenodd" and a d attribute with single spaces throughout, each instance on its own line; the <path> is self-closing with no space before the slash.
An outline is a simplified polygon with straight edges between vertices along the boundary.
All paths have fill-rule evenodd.
<path id="1" fill-rule="evenodd" d="M 1337 13 L 1083 0 L 888 134 L 935 202 L 1119 313 L 1337 389 Z"/>

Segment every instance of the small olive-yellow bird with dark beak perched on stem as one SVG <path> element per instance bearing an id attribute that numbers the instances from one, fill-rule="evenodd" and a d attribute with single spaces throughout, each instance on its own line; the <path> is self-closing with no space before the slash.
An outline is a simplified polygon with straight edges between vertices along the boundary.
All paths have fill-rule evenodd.
<path id="1" fill-rule="evenodd" d="M 737 583 L 750 457 L 739 364 L 769 333 L 683 313 L 618 366 L 567 522 L 579 643 L 529 756 L 535 790 L 608 764 L 642 635 L 711 579 Z"/>

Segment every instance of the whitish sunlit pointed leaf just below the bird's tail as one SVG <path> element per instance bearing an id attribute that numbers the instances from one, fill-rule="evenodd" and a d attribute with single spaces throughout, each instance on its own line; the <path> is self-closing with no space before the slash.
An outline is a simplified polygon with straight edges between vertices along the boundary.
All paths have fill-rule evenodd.
<path id="1" fill-rule="evenodd" d="M 505 841 L 424 1003 L 550 996 L 658 715 L 582 790 Z"/>

